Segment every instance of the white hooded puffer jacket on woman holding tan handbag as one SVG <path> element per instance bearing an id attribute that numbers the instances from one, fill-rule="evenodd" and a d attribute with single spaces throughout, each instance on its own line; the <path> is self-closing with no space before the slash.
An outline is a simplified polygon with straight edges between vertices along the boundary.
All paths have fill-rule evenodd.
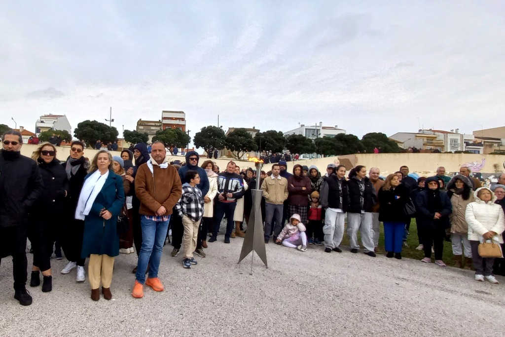
<path id="1" fill-rule="evenodd" d="M 505 230 L 505 217 L 501 206 L 495 204 L 496 196 L 491 192 L 491 201 L 483 202 L 477 197 L 477 193 L 486 187 L 477 188 L 474 192 L 475 202 L 468 204 L 465 212 L 465 219 L 468 223 L 468 239 L 479 241 L 482 235 L 488 231 L 493 231 L 495 235 L 493 239 L 497 239 L 500 244 L 503 243 L 501 233 Z"/>

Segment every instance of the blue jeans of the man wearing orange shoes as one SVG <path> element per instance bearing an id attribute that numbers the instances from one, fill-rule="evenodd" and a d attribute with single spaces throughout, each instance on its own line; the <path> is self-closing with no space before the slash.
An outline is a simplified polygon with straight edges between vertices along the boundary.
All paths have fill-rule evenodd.
<path id="1" fill-rule="evenodd" d="M 137 273 L 135 278 L 139 283 L 145 282 L 145 270 L 149 264 L 148 277 L 158 277 L 161 256 L 163 253 L 163 244 L 167 237 L 168 221 L 148 220 L 145 216 L 140 218 L 142 227 L 142 248 L 138 254 Z"/>

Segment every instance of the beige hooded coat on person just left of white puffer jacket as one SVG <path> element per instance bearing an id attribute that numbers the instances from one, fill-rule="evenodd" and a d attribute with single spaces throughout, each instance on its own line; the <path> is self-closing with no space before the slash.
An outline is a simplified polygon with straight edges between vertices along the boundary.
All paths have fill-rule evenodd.
<path id="1" fill-rule="evenodd" d="M 437 177 L 437 179 L 440 179 Z M 463 181 L 463 191 L 456 191 L 456 180 Z M 465 220 L 465 212 L 468 204 L 474 202 L 472 182 L 462 174 L 455 175 L 447 183 L 447 196 L 452 204 L 450 213 L 450 232 L 466 235 L 468 233 L 468 223 Z M 466 198 L 466 199 L 465 199 Z"/>

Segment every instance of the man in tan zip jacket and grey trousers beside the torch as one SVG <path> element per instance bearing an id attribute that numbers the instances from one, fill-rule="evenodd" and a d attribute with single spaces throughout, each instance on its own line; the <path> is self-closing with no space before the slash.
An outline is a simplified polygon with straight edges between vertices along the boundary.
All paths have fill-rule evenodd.
<path id="1" fill-rule="evenodd" d="M 272 165 L 272 175 L 266 177 L 261 184 L 263 197 L 265 197 L 265 243 L 268 244 L 270 231 L 272 230 L 272 220 L 275 217 L 274 242 L 277 235 L 282 230 L 281 221 L 283 213 L 283 203 L 287 199 L 287 179 L 280 176 L 281 168 L 279 164 Z"/>

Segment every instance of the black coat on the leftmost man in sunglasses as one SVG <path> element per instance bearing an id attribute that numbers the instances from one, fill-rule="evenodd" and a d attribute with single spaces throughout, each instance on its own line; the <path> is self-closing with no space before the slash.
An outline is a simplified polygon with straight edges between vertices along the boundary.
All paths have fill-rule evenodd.
<path id="1" fill-rule="evenodd" d="M 28 213 L 43 188 L 33 159 L 19 152 L 0 151 L 0 227 L 28 225 Z"/>

